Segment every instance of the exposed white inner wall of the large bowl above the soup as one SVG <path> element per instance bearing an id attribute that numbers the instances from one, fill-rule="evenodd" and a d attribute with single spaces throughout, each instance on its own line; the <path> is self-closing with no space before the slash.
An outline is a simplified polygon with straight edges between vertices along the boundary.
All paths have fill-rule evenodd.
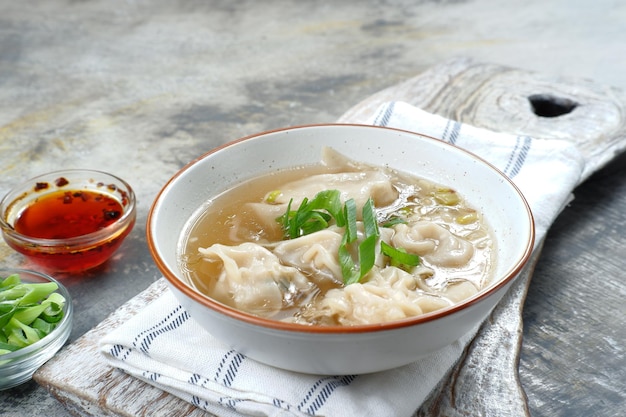
<path id="1" fill-rule="evenodd" d="M 188 164 L 161 190 L 148 219 L 148 243 L 171 283 L 185 289 L 179 245 L 190 219 L 213 196 L 261 173 L 318 163 L 323 147 L 389 166 L 459 191 L 483 212 L 496 240 L 495 279 L 512 279 L 533 245 L 533 219 L 519 190 L 482 159 L 440 140 L 359 125 L 314 125 L 265 132 L 213 150 Z M 480 294 L 483 294 L 484 289 Z M 200 299 L 200 298 L 198 298 Z"/>

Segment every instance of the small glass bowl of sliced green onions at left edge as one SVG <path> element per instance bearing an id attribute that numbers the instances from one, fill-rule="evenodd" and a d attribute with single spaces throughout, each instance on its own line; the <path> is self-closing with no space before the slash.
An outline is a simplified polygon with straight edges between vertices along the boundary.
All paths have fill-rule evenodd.
<path id="1" fill-rule="evenodd" d="M 72 299 L 54 278 L 0 269 L 0 390 L 30 380 L 72 330 Z"/>

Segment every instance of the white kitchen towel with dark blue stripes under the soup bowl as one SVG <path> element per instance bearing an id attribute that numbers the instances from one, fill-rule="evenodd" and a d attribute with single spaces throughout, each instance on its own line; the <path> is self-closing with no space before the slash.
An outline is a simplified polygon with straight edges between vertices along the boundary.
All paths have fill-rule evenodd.
<path id="1" fill-rule="evenodd" d="M 426 113 L 381 106 L 371 124 L 416 131 L 465 148 L 520 187 L 537 242 L 569 201 L 584 161 L 568 142 L 501 134 Z M 103 338 L 108 363 L 219 416 L 393 416 L 415 413 L 475 332 L 416 363 L 368 375 L 319 376 L 259 364 L 197 325 L 171 292 Z"/>

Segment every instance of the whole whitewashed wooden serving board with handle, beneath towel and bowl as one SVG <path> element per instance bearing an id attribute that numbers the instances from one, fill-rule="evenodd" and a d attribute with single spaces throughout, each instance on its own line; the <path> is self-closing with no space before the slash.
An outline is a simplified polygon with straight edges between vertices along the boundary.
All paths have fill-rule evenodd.
<path id="1" fill-rule="evenodd" d="M 562 116 L 543 117 L 534 112 L 529 99 L 532 95 L 558 98 L 577 106 Z M 365 99 L 339 121 L 365 122 L 385 101 L 406 101 L 495 131 L 573 141 L 587 160 L 585 178 L 625 146 L 622 115 L 626 113 L 626 100 L 619 91 L 588 81 L 550 79 L 459 59 L 444 62 Z M 528 415 L 517 365 L 523 332 L 522 306 L 538 257 L 539 251 L 468 346 L 464 357 L 416 415 Z M 42 367 L 35 380 L 77 416 L 206 415 L 182 400 L 110 369 L 99 357 L 99 339 L 163 290 L 160 280 L 131 299 Z M 67 372 L 70 368 L 74 370 Z"/>

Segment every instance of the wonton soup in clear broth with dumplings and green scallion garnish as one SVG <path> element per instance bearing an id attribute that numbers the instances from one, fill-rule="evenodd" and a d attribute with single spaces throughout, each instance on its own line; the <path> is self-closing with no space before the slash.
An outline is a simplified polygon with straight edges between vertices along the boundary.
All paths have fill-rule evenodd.
<path id="1" fill-rule="evenodd" d="M 351 326 L 439 310 L 489 283 L 494 239 L 462 190 L 332 149 L 321 159 L 208 202 L 183 234 L 189 284 L 257 316 Z"/>

